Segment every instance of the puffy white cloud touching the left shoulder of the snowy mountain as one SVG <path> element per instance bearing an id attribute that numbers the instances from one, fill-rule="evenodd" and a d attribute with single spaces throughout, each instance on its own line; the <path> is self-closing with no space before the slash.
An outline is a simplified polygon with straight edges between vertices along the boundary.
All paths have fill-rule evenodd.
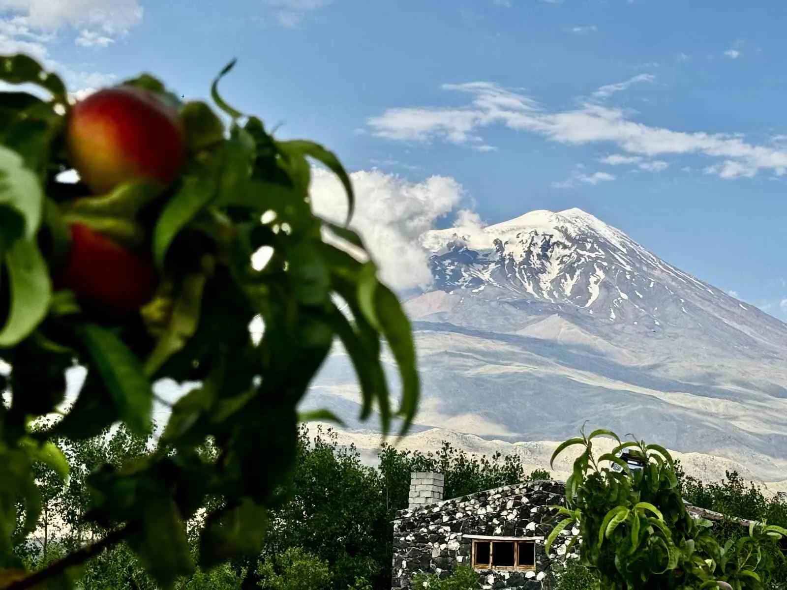
<path id="1" fill-rule="evenodd" d="M 410 183 L 378 170 L 356 171 L 350 177 L 357 194 L 351 226 L 364 238 L 383 280 L 396 289 L 428 286 L 432 279 L 429 253 L 418 238 L 460 203 L 464 196 L 460 184 L 445 176 Z M 344 220 L 347 201 L 333 174 L 315 169 L 311 190 L 318 215 Z M 471 212 L 460 212 L 460 216 L 468 223 L 480 223 Z"/>

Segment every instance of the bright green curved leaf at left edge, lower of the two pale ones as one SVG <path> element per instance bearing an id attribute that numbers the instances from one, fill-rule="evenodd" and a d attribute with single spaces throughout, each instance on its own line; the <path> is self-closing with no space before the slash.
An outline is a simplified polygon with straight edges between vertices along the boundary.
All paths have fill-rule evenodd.
<path id="1" fill-rule="evenodd" d="M 49 269 L 34 240 L 16 240 L 5 258 L 11 306 L 0 328 L 0 347 L 17 345 L 28 337 L 46 316 L 52 297 Z"/>

